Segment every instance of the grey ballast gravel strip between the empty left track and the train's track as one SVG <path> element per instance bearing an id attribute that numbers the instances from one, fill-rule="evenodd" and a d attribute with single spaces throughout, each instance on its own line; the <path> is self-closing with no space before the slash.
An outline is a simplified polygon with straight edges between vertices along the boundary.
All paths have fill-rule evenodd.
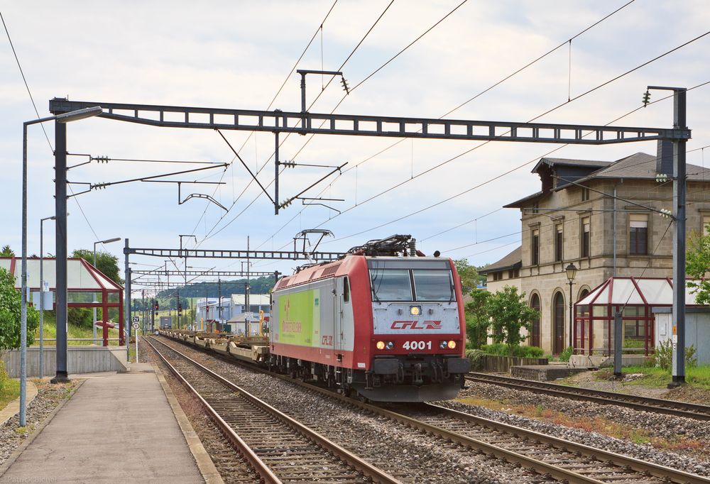
<path id="1" fill-rule="evenodd" d="M 547 483 L 550 478 L 353 409 L 311 390 L 161 338 L 281 412 L 315 429 L 403 482 Z M 160 348 L 163 351 L 164 348 Z"/>

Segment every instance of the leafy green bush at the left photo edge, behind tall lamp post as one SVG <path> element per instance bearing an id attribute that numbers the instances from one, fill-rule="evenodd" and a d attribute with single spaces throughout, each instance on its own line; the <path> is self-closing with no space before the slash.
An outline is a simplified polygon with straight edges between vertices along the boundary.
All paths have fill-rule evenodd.
<path id="1" fill-rule="evenodd" d="M 20 347 L 22 297 L 15 289 L 15 277 L 0 268 L 0 353 Z M 35 329 L 39 325 L 38 312 L 27 307 L 27 344 L 34 342 Z"/>

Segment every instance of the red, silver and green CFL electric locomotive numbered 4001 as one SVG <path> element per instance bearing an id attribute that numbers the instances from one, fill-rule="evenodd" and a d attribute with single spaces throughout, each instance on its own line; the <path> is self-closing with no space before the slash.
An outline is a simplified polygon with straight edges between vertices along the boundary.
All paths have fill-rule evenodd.
<path id="1" fill-rule="evenodd" d="M 272 368 L 376 402 L 454 398 L 470 368 L 454 263 L 410 236 L 282 277 L 270 332 Z"/>

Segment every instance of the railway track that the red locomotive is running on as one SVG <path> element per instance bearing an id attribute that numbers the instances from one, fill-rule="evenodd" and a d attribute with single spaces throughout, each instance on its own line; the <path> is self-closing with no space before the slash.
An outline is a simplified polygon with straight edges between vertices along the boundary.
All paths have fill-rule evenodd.
<path id="1" fill-rule="evenodd" d="M 193 349 L 197 351 L 197 348 Z M 219 359 L 241 365 L 229 358 Z M 346 405 L 386 417 L 443 441 L 454 442 L 479 453 L 532 468 L 541 475 L 549 475 L 557 480 L 570 483 L 710 483 L 710 479 L 700 475 L 640 461 L 438 405 L 410 406 L 413 407 L 413 411 L 398 405 L 398 412 L 395 412 L 393 409 L 353 400 L 284 375 L 269 373 L 252 366 L 248 368 L 306 387 L 344 402 Z"/>

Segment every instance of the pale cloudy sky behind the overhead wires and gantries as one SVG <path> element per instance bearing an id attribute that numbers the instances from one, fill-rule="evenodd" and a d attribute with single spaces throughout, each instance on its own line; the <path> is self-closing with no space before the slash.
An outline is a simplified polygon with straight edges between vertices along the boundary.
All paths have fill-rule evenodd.
<path id="1" fill-rule="evenodd" d="M 710 35 L 644 65 L 710 30 L 705 0 L 333 4 L 1 0 L 0 13 L 40 117 L 50 115 L 48 100 L 53 97 L 98 104 L 298 111 L 300 77 L 291 72 L 293 67 L 337 70 L 344 61 L 344 76 L 356 89 L 345 95 L 339 79 L 327 85 L 327 77 L 310 75 L 311 112 L 329 113 L 342 101 L 337 114 L 530 121 L 557 108 L 535 121 L 603 125 L 641 106 L 647 85 L 690 88 L 710 82 Z M 0 245 L 9 244 L 19 255 L 21 126 L 37 114 L 5 34 L 0 31 Z M 692 129 L 688 150 L 710 145 L 709 93 L 707 84 L 687 95 Z M 651 99 L 664 95 L 652 92 Z M 614 124 L 670 127 L 672 101 L 651 104 Z M 48 139 L 39 125 L 28 134 L 29 254 L 40 251 L 40 219 L 54 214 L 54 126 L 43 127 Z M 172 183 L 133 182 L 72 197 L 69 251 L 91 249 L 94 241 L 114 237 L 129 238 L 134 247 L 178 248 L 179 234 L 195 236 L 183 238 L 188 248 L 245 249 L 249 238 L 251 248 L 286 250 L 293 248 L 296 233 L 318 228 L 334 233 L 322 242 L 323 251 L 346 251 L 371 239 L 408 233 L 427 254 L 438 250 L 473 265 L 494 262 L 520 243 L 520 212 L 501 207 L 540 189 L 530 170 L 542 156 L 556 150 L 550 156 L 613 161 L 639 151 L 655 153 L 654 142 L 564 146 L 282 136 L 282 160 L 347 163 L 342 175 L 328 177 L 304 195 L 344 202 L 324 202 L 329 208 L 296 201 L 275 216 L 268 198 L 256 183 L 250 184 L 249 173 L 214 131 L 93 118 L 68 124 L 67 133 L 72 154 L 230 164 L 226 170 L 164 178 L 222 183 L 182 185 L 181 195 L 213 195 L 229 211 L 197 198 L 178 204 L 178 187 Z M 273 134 L 225 131 L 224 136 L 250 169 L 259 172 L 261 184 L 271 184 Z M 710 164 L 704 151 L 689 153 L 688 163 Z M 69 164 L 86 160 L 72 155 Z M 203 166 L 111 160 L 75 167 L 67 177 L 95 184 Z M 325 167 L 289 168 L 279 180 L 280 199 L 327 172 Z M 80 192 L 86 185 L 71 187 Z M 268 190 L 273 194 L 273 186 Z M 123 268 L 123 245 L 98 248 L 116 255 Z M 45 253 L 54 252 L 54 227 L 48 222 Z M 131 261 L 137 263 L 133 269 L 164 264 L 159 258 L 136 256 Z M 185 265 L 174 262 L 168 266 Z M 265 260 L 252 269 L 290 273 L 299 264 Z M 239 260 L 188 260 L 187 265 L 241 268 Z"/>

